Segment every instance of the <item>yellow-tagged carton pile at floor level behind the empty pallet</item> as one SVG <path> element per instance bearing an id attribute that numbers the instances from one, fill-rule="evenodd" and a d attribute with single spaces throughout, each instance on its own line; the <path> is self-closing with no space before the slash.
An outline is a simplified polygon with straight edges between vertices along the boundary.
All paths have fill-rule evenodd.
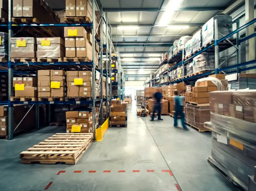
<path id="1" fill-rule="evenodd" d="M 66 112 L 67 133 L 91 133 L 92 112 L 68 111 Z"/>

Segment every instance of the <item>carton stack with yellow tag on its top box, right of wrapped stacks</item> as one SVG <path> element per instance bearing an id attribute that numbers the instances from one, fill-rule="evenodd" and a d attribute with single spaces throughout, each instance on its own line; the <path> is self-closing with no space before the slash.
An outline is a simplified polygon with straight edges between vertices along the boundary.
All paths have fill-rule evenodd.
<path id="1" fill-rule="evenodd" d="M 92 34 L 84 27 L 64 28 L 66 57 L 82 57 L 92 60 Z"/>

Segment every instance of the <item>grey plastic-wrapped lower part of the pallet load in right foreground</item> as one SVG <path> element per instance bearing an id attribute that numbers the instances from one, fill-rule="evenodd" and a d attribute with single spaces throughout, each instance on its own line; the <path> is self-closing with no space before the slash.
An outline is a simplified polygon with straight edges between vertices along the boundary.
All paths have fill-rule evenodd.
<path id="1" fill-rule="evenodd" d="M 248 175 L 254 175 L 256 161 L 228 147 L 226 140 L 212 138 L 212 156 L 210 161 L 244 190 L 248 187 Z M 229 142 L 230 143 L 230 142 Z"/>

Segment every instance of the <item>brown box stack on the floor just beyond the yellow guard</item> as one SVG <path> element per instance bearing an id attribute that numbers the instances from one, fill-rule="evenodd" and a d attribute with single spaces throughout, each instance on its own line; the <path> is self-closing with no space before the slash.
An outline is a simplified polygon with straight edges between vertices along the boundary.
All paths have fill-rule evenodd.
<path id="1" fill-rule="evenodd" d="M 110 106 L 110 127 L 127 127 L 127 104 L 121 100 L 112 100 Z"/>

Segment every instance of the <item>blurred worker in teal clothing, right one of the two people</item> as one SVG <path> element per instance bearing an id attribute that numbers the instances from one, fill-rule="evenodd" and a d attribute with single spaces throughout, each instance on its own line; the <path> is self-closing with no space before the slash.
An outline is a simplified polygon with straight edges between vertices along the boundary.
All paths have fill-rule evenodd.
<path id="1" fill-rule="evenodd" d="M 178 116 L 181 118 L 182 127 L 186 129 L 185 114 L 183 112 L 184 96 L 179 96 L 178 91 L 174 91 L 174 127 L 178 127 Z"/>

